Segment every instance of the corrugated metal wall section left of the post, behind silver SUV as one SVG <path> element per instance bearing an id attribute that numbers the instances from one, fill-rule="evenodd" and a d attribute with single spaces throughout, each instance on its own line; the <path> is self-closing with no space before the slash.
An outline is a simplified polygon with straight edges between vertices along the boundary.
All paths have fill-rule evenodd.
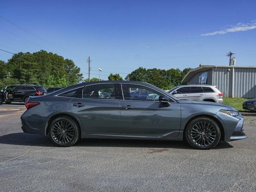
<path id="1" fill-rule="evenodd" d="M 216 85 L 224 97 L 232 97 L 232 69 L 212 68 L 212 85 Z"/>

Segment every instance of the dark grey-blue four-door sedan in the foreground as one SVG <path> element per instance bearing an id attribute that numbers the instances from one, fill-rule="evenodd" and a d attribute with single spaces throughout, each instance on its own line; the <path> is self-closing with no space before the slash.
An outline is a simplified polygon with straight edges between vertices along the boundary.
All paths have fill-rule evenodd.
<path id="1" fill-rule="evenodd" d="M 156 94 L 134 98 L 131 90 Z M 112 97 L 102 98 L 99 92 Z M 197 149 L 220 140 L 247 138 L 244 118 L 235 109 L 212 102 L 179 100 L 156 86 L 132 81 L 76 84 L 41 97 L 31 97 L 22 114 L 26 133 L 49 134 L 57 146 L 79 138 L 182 140 Z"/>

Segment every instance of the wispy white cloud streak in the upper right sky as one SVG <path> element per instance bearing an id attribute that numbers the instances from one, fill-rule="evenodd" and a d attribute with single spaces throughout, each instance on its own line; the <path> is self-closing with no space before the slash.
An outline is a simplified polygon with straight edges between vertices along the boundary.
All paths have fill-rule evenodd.
<path id="1" fill-rule="evenodd" d="M 256 20 L 250 23 L 238 23 L 235 26 L 231 26 L 230 28 L 211 32 L 211 33 L 204 33 L 204 34 L 201 34 L 201 36 L 212 36 L 212 35 L 226 34 L 231 32 L 238 32 L 238 31 L 248 31 L 252 29 L 256 29 Z"/>

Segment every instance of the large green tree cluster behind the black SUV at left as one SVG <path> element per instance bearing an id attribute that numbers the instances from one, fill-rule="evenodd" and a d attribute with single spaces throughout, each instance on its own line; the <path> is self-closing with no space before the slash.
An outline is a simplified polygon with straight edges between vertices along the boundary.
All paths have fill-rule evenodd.
<path id="1" fill-rule="evenodd" d="M 19 52 L 8 62 L 0 60 L 0 88 L 12 84 L 70 86 L 82 81 L 82 76 L 72 60 L 44 50 Z"/>

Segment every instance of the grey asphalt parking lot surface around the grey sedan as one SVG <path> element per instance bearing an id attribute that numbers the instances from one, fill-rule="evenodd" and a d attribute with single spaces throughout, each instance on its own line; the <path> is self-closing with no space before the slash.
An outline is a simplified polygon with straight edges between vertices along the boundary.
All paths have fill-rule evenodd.
<path id="1" fill-rule="evenodd" d="M 186 142 L 83 139 L 69 148 L 23 133 L 24 105 L 0 105 L 0 191 L 256 191 L 256 117 L 245 140 L 194 150 Z"/>

